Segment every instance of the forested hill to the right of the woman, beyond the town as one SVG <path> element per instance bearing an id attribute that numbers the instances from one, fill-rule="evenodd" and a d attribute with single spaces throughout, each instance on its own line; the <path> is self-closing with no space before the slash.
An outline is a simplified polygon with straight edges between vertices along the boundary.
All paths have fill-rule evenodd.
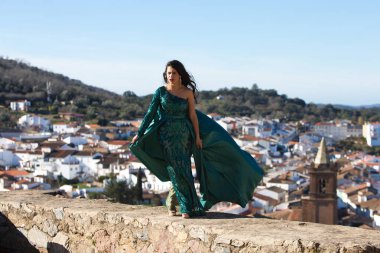
<path id="1" fill-rule="evenodd" d="M 273 89 L 259 89 L 256 84 L 253 84 L 251 88 L 234 87 L 217 91 L 202 91 L 200 97 L 203 111 L 217 112 L 222 115 L 228 112 L 229 115 L 251 115 L 285 121 L 304 119 L 309 122 L 350 119 L 361 123 L 365 120 L 380 119 L 379 108 L 337 108 L 331 104 L 321 106 L 305 103 L 300 98 L 288 98 Z"/>

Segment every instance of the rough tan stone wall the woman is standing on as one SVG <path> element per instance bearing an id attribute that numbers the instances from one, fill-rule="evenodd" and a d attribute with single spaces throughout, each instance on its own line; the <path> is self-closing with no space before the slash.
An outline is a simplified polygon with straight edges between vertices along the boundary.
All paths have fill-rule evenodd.
<path id="1" fill-rule="evenodd" d="M 220 213 L 182 219 L 164 207 L 41 191 L 0 193 L 0 212 L 0 252 L 380 252 L 379 230 Z"/>

